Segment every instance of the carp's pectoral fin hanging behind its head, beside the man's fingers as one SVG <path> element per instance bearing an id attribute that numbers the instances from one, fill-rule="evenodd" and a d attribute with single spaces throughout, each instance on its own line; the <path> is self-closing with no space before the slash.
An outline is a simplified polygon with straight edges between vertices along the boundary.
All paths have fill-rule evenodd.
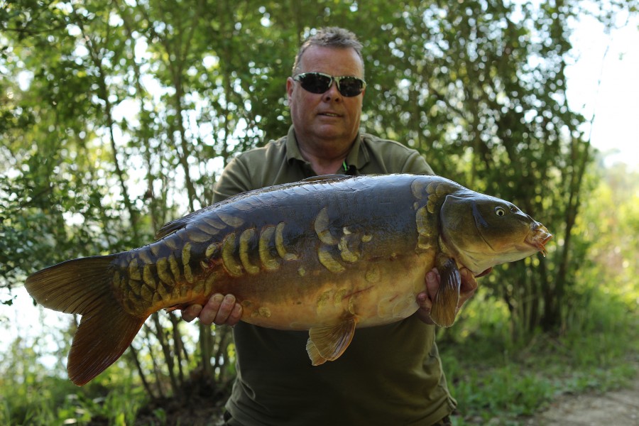
<path id="1" fill-rule="evenodd" d="M 437 257 L 437 270 L 441 280 L 432 302 L 430 319 L 440 327 L 450 327 L 457 316 L 461 275 L 454 259 L 446 256 Z"/>

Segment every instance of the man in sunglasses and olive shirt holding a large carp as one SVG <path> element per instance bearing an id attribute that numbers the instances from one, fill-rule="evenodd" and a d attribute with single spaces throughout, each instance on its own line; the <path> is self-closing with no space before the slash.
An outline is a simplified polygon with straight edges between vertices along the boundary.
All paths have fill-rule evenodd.
<path id="1" fill-rule="evenodd" d="M 361 44 L 353 33 L 324 28 L 306 40 L 286 89 L 293 121 L 288 135 L 232 160 L 214 201 L 330 173 L 432 174 L 416 151 L 359 132 L 366 83 Z M 415 315 L 359 329 L 348 351 L 321 366 L 312 366 L 303 350 L 307 332 L 239 322 L 241 305 L 232 295 L 213 295 L 182 317 L 236 324 L 238 374 L 226 403 L 229 426 L 446 425 L 456 402 L 447 390 L 429 317 L 438 285 L 437 272 L 427 273 Z M 463 283 L 461 290 L 460 306 L 475 288 Z"/>

